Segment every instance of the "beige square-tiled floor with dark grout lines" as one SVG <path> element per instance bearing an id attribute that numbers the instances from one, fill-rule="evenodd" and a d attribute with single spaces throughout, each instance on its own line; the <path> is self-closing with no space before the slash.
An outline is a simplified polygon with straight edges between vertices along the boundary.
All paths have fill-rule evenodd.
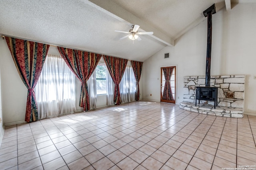
<path id="1" fill-rule="evenodd" d="M 256 165 L 256 117 L 131 102 L 6 127 L 0 169 L 221 170 Z M 256 168 L 256 167 L 249 167 Z"/>

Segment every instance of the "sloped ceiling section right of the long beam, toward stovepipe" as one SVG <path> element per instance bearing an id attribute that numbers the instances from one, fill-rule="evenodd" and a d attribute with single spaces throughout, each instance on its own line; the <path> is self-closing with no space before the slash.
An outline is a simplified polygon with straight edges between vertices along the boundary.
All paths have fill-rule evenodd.
<path id="1" fill-rule="evenodd" d="M 190 23 L 202 17 L 202 12 L 212 4 L 224 0 L 113 0 L 127 11 L 159 29 L 170 38 L 178 35 Z M 143 7 L 143 8 L 142 8 Z"/>

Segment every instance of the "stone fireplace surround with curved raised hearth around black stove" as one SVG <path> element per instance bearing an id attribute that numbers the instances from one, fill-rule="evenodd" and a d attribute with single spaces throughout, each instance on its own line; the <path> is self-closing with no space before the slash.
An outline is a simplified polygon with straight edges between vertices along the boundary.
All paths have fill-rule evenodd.
<path id="1" fill-rule="evenodd" d="M 195 106 L 195 87 L 205 86 L 205 76 L 185 76 L 180 108 L 208 115 L 243 117 L 244 82 L 245 75 L 211 76 L 210 86 L 218 87 L 218 107 L 214 109 L 213 102 L 205 104 L 206 101 L 200 101 Z"/>

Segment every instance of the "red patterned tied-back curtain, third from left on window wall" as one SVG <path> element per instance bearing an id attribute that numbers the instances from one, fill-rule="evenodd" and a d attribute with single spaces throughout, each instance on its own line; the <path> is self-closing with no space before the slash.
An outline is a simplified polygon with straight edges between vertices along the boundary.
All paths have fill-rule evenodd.
<path id="1" fill-rule="evenodd" d="M 108 68 L 108 71 L 110 72 L 110 76 L 113 82 L 115 83 L 114 103 L 116 103 L 116 105 L 120 105 L 122 102 L 120 97 L 119 84 L 124 75 L 124 71 L 125 71 L 128 60 L 116 58 L 116 57 L 110 57 L 106 55 L 104 55 L 103 58 Z"/>

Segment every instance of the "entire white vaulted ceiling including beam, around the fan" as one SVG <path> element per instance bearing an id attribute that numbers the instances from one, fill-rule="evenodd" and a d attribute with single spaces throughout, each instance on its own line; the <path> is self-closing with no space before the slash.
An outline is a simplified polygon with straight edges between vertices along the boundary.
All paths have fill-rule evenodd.
<path id="1" fill-rule="evenodd" d="M 202 22 L 214 3 L 230 10 L 230 0 L 1 0 L 0 34 L 145 61 Z M 120 40 L 126 34 L 114 30 L 134 24 L 154 34 Z"/>

